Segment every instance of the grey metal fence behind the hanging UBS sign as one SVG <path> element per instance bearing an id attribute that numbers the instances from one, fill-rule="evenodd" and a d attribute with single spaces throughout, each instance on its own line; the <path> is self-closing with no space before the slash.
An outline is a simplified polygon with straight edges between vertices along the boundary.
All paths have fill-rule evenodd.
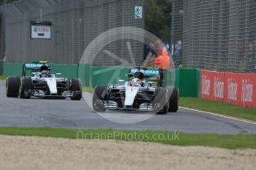
<path id="1" fill-rule="evenodd" d="M 0 7 L 5 18 L 7 62 L 46 60 L 56 64 L 77 64 L 85 48 L 97 35 L 114 27 L 144 27 L 144 17 L 134 18 L 134 7 L 143 0 L 22 0 Z M 30 21 L 50 21 L 51 38 L 30 38 Z M 125 41 L 106 47 L 122 59 L 129 59 Z M 131 50 L 142 62 L 143 45 L 131 41 Z M 96 66 L 119 64 L 99 52 Z"/>

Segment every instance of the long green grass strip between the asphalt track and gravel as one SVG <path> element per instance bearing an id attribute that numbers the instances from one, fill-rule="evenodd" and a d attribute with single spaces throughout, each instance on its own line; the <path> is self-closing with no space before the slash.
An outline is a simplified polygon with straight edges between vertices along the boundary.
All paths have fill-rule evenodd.
<path id="1" fill-rule="evenodd" d="M 176 133 L 176 136 L 175 136 Z M 166 131 L 130 131 L 114 129 L 56 129 L 1 127 L 1 135 L 63 137 L 70 139 L 127 140 L 177 146 L 214 146 L 226 149 L 256 149 L 256 135 L 186 134 Z"/>

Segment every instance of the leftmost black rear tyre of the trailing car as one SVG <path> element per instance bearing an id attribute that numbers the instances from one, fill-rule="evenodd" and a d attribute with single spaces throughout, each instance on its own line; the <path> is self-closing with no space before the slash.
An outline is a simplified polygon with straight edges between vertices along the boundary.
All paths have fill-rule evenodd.
<path id="1" fill-rule="evenodd" d="M 21 81 L 17 76 L 8 76 L 6 79 L 6 96 L 8 98 L 19 97 L 19 86 Z"/>

